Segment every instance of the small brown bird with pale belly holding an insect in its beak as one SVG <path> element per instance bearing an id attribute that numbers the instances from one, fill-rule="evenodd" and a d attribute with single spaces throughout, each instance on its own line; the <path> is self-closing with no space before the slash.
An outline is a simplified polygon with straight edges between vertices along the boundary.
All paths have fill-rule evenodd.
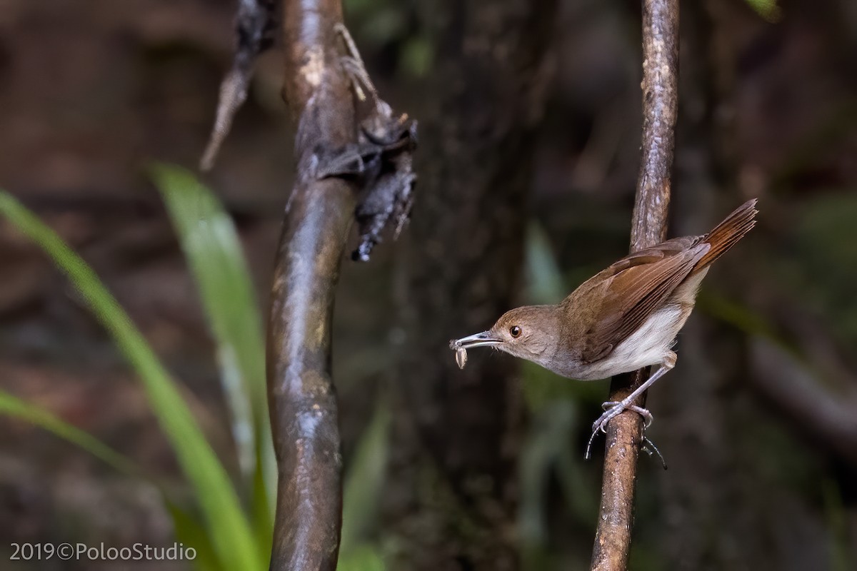
<path id="1" fill-rule="evenodd" d="M 605 402 L 592 438 L 625 409 L 651 413 L 635 399 L 675 366 L 672 348 L 696 302 L 711 263 L 756 224 L 756 199 L 741 205 L 708 234 L 663 241 L 620 259 L 586 280 L 555 306 L 524 306 L 482 333 L 453 339 L 458 366 L 467 349 L 494 347 L 567 378 L 584 381 L 660 368 L 620 402 Z M 589 456 L 589 447 L 586 451 Z"/>

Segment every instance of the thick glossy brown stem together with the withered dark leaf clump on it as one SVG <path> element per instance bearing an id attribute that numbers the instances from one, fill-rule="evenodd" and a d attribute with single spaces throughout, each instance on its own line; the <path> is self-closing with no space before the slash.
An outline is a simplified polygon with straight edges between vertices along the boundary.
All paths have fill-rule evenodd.
<path id="1" fill-rule="evenodd" d="M 333 571 L 342 519 L 330 371 L 334 290 L 356 210 L 361 224 L 363 213 L 374 214 L 375 233 L 407 216 L 413 126 L 377 98 L 342 26 L 339 0 L 286 0 L 283 22 L 284 97 L 297 119 L 297 176 L 268 322 L 278 463 L 271 568 Z"/>

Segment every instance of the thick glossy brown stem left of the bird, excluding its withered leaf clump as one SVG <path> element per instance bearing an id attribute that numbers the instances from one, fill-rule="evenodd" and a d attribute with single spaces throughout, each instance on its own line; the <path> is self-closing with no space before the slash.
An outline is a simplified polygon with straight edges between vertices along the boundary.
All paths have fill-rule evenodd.
<path id="1" fill-rule="evenodd" d="M 285 2 L 284 96 L 298 118 L 297 180 L 273 275 L 267 377 L 277 514 L 272 569 L 336 568 L 342 512 L 336 397 L 330 375 L 333 294 L 355 194 L 313 173 L 314 146 L 351 142 L 354 107 L 337 63 L 339 0 Z"/>

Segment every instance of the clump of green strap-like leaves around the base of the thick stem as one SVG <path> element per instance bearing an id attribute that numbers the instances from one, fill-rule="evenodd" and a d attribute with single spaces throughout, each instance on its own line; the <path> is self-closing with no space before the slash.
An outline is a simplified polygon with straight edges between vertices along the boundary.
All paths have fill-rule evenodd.
<path id="1" fill-rule="evenodd" d="M 162 492 L 177 540 L 197 550 L 196 568 L 266 568 L 273 533 L 276 466 L 265 394 L 261 313 L 248 265 L 231 217 L 207 187 L 177 167 L 156 165 L 153 175 L 200 290 L 217 346 L 243 478 L 233 483 L 190 412 L 180 385 L 92 269 L 59 235 L 3 191 L 0 214 L 51 256 L 135 369 L 195 491 L 196 507 L 183 508 L 133 461 L 41 407 L 0 392 L 0 413 L 39 425 L 112 467 L 149 479 Z M 380 550 L 368 540 L 386 466 L 388 424 L 387 404 L 380 401 L 345 482 L 339 571 L 384 568 Z"/>

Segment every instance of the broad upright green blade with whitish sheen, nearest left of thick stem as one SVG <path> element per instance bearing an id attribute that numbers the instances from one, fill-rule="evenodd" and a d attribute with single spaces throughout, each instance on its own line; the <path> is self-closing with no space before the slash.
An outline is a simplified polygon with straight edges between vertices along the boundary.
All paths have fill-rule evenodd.
<path id="1" fill-rule="evenodd" d="M 235 224 L 211 190 L 179 167 L 155 164 L 152 173 L 217 342 L 220 377 L 245 482 L 257 485 L 255 471 L 261 467 L 267 502 L 254 503 L 255 511 L 264 512 L 255 520 L 263 526 L 259 535 L 267 536 L 273 532 L 277 464 L 267 412 L 265 339 L 249 267 Z"/>

